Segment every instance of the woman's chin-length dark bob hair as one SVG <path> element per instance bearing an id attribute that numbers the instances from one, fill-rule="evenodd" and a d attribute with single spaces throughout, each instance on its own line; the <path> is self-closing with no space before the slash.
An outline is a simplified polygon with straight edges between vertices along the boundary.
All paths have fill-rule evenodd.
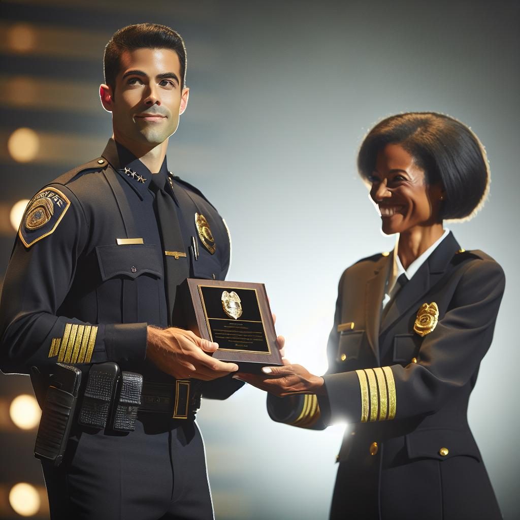
<path id="1" fill-rule="evenodd" d="M 359 149 L 361 177 L 372 175 L 377 154 L 388 144 L 400 145 L 412 155 L 428 184 L 443 186 L 441 219 L 471 217 L 483 205 L 489 190 L 486 151 L 460 121 L 435 112 L 407 112 L 384 119 Z"/>

